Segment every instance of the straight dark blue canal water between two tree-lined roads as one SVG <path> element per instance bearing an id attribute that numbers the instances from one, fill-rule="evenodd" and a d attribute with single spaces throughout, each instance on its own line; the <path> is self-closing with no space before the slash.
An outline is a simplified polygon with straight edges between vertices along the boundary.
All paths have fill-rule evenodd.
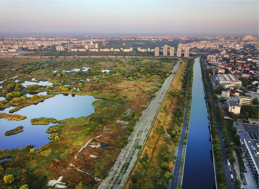
<path id="1" fill-rule="evenodd" d="M 192 104 L 183 189 L 215 188 L 209 120 L 199 59 L 200 57 L 195 58 L 193 66 Z"/>

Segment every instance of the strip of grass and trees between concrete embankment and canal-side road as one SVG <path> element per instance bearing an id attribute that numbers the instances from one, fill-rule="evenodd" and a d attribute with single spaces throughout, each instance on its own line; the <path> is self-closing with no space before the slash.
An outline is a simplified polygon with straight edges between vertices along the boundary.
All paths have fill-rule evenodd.
<path id="1" fill-rule="evenodd" d="M 126 187 L 165 188 L 171 181 L 170 169 L 175 164 L 173 157 L 183 124 L 192 66 L 193 62 L 187 59 L 181 63 Z"/>

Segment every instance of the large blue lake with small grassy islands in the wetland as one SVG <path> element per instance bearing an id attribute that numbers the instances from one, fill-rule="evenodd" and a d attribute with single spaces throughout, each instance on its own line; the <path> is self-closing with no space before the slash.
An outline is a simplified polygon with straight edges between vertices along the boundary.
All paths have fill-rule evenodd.
<path id="1" fill-rule="evenodd" d="M 22 148 L 26 145 L 35 145 L 34 148 L 39 148 L 47 144 L 50 136 L 46 133 L 46 129 L 54 123 L 49 125 L 31 125 L 32 118 L 56 118 L 57 120 L 65 118 L 78 118 L 81 116 L 88 116 L 94 113 L 92 102 L 95 99 L 93 96 L 88 95 L 71 95 L 65 96 L 58 94 L 55 97 L 49 98 L 38 104 L 32 104 L 24 107 L 13 114 L 27 116 L 26 119 L 15 121 L 7 121 L 4 118 L 0 119 L 0 149 Z M 13 107 L 5 108 L 0 111 L 1 113 L 9 113 Z M 23 132 L 15 135 L 5 136 L 5 131 L 14 129 L 18 126 L 23 126 Z"/>

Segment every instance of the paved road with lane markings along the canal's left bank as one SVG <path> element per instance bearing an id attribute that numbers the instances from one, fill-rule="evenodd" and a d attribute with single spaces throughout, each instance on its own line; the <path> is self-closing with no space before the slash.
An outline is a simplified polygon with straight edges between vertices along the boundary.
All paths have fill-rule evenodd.
<path id="1" fill-rule="evenodd" d="M 185 150 L 185 144 L 183 144 L 184 141 L 184 136 L 185 136 L 185 131 L 186 131 L 186 123 L 189 122 L 187 119 L 188 117 L 188 107 L 189 107 L 189 94 L 190 94 L 190 81 L 189 81 L 189 86 L 188 86 L 188 97 L 187 97 L 187 103 L 186 103 L 186 108 L 185 108 L 185 114 L 184 114 L 184 119 L 183 119 L 183 127 L 182 127 L 182 132 L 179 140 L 179 146 L 176 148 L 175 155 L 177 156 L 176 158 L 176 163 L 174 165 L 174 171 L 173 171 L 173 178 L 171 180 L 171 183 L 168 184 L 167 188 L 169 189 L 174 189 L 177 187 L 179 184 L 181 184 L 181 175 L 179 174 L 179 171 L 181 170 L 181 161 L 182 157 L 184 156 L 184 150 Z"/>

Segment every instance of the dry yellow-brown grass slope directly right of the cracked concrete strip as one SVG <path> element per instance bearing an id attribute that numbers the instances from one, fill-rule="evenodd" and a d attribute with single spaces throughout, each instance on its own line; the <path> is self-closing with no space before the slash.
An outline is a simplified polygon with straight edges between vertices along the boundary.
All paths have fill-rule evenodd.
<path id="1" fill-rule="evenodd" d="M 182 79 L 183 72 L 187 65 L 186 61 L 183 61 L 181 64 L 178 73 L 176 74 L 171 86 L 169 87 L 169 91 L 180 92 L 182 90 Z M 166 106 L 167 111 L 164 111 L 164 106 Z M 176 110 L 177 102 L 173 99 L 170 94 L 167 94 L 165 100 L 161 106 L 161 110 L 158 113 L 158 116 L 155 120 L 154 126 L 150 132 L 149 138 L 147 139 L 146 145 L 144 146 L 144 150 L 140 155 L 140 159 L 144 157 L 145 154 L 149 155 L 149 163 L 146 165 L 141 164 L 139 161 L 136 167 L 133 170 L 131 177 L 139 177 L 138 183 L 142 183 L 141 188 L 154 188 L 154 177 L 157 173 L 161 172 L 160 167 L 160 158 L 161 154 L 163 154 L 164 150 L 170 150 L 170 159 L 172 161 L 172 157 L 174 155 L 176 143 L 170 141 L 169 144 L 163 140 L 162 133 L 168 130 L 180 129 L 180 126 L 172 122 L 173 113 Z M 147 169 L 148 168 L 148 169 Z M 161 177 L 163 177 L 161 175 Z M 133 183 L 131 180 L 129 181 L 126 188 L 132 188 Z"/>

